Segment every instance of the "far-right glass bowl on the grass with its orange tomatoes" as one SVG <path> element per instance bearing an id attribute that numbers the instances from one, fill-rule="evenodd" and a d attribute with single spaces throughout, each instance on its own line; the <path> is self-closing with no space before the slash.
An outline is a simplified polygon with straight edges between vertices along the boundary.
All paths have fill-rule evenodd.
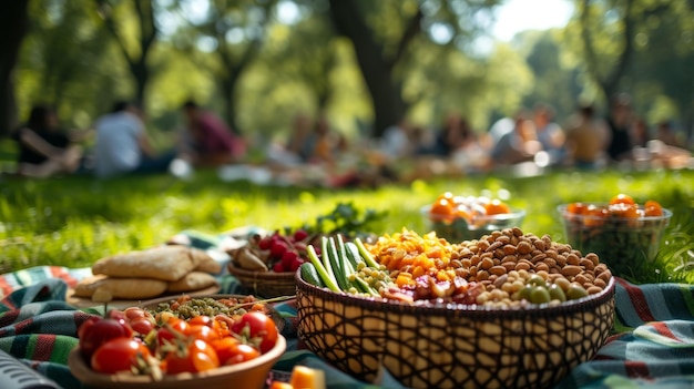
<path id="1" fill-rule="evenodd" d="M 672 212 L 656 201 L 636 203 L 619 194 L 605 203 L 574 202 L 558 206 L 567 242 L 582 253 L 595 253 L 618 276 L 653 260 Z"/>

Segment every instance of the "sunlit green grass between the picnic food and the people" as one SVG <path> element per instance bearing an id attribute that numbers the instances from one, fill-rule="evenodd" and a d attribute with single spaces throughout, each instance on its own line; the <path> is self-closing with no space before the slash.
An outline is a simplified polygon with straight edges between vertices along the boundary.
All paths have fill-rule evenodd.
<path id="1" fill-rule="evenodd" d="M 509 191 L 509 203 L 528 213 L 522 229 L 563 242 L 557 205 L 606 201 L 627 193 L 671 208 L 659 257 L 634 270 L 630 280 L 694 284 L 694 172 L 571 173 L 535 177 L 472 176 L 391 185 L 378 190 L 257 186 L 221 182 L 214 172 L 193 181 L 171 176 L 0 178 L 0 270 L 38 265 L 90 266 L 95 259 L 160 244 L 177 232 L 217 234 L 238 226 L 268 229 L 297 226 L 330 212 L 338 202 L 387 212 L 376 234 L 407 227 L 423 233 L 419 208 L 445 191 L 479 195 Z"/>

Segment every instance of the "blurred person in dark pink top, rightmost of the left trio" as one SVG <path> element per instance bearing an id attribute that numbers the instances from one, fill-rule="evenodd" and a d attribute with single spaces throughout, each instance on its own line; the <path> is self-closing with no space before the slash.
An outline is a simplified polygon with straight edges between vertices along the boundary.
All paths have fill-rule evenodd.
<path id="1" fill-rule="evenodd" d="M 197 167 L 218 167 L 243 161 L 246 144 L 216 114 L 206 111 L 192 100 L 183 104 L 186 132 L 183 158 Z"/>

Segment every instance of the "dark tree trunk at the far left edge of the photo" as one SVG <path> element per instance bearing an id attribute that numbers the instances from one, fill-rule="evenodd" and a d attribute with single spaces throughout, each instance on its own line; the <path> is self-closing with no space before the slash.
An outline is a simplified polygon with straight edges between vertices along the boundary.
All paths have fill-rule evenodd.
<path id="1" fill-rule="evenodd" d="M 3 1 L 0 6 L 0 137 L 17 126 L 14 65 L 28 29 L 29 0 Z"/>

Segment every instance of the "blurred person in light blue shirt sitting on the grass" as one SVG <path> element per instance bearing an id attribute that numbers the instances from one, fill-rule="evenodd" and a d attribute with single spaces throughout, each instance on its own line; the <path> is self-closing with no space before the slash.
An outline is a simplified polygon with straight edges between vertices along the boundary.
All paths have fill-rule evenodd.
<path id="1" fill-rule="evenodd" d="M 175 157 L 170 151 L 156 155 L 146 136 L 142 111 L 133 103 L 119 101 L 95 123 L 94 173 L 111 177 L 129 173 L 163 173 Z"/>

